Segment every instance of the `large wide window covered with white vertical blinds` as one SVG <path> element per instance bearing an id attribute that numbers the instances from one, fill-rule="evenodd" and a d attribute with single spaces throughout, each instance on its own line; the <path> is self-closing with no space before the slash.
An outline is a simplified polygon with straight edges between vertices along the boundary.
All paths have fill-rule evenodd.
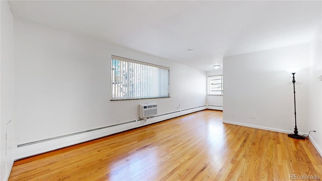
<path id="1" fill-rule="evenodd" d="M 170 68 L 112 55 L 112 100 L 168 98 Z"/>

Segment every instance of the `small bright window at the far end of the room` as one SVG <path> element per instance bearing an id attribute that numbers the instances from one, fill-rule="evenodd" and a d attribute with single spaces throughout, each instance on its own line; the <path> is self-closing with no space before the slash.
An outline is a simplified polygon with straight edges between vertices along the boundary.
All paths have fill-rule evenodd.
<path id="1" fill-rule="evenodd" d="M 223 75 L 208 76 L 208 95 L 223 95 Z"/>

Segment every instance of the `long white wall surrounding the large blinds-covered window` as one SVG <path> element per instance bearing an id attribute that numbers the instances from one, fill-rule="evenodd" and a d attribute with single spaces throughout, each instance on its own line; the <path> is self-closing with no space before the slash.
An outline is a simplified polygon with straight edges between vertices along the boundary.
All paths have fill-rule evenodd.
<path id="1" fill-rule="evenodd" d="M 106 42 L 15 19 L 14 50 L 16 145 L 206 104 L 205 71 Z M 171 98 L 110 101 L 111 55 L 170 67 Z"/>

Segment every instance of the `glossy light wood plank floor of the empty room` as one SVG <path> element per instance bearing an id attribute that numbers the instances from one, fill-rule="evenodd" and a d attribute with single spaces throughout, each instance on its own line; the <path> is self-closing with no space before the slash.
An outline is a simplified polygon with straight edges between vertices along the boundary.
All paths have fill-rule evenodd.
<path id="1" fill-rule="evenodd" d="M 309 140 L 223 124 L 205 110 L 15 161 L 9 180 L 290 180 L 322 177 Z"/>

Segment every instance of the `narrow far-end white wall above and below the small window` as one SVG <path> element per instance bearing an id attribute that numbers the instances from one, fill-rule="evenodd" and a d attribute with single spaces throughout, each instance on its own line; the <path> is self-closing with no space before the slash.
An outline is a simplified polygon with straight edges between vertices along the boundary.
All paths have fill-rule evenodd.
<path id="1" fill-rule="evenodd" d="M 222 66 L 213 71 L 207 71 L 207 76 L 222 75 Z M 208 86 L 208 85 L 207 85 Z M 207 95 L 208 109 L 223 110 L 223 96 L 222 95 Z"/>

